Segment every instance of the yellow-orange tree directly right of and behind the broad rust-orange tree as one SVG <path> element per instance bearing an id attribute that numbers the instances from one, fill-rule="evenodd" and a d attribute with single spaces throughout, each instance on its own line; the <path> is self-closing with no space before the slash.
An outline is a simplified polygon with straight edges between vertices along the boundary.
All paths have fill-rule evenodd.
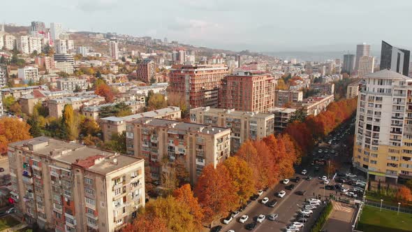
<path id="1" fill-rule="evenodd" d="M 240 204 L 247 202 L 256 190 L 252 169 L 239 157 L 229 157 L 223 164 L 228 168 L 232 184 L 237 189 L 238 201 Z"/>

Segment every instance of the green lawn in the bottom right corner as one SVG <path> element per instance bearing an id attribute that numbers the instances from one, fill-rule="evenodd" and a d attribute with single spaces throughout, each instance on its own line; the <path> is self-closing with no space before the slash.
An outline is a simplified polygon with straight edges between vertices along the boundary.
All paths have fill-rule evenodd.
<path id="1" fill-rule="evenodd" d="M 365 206 L 358 230 L 364 232 L 406 232 L 412 231 L 412 215 L 396 211 L 384 210 L 373 206 Z"/>

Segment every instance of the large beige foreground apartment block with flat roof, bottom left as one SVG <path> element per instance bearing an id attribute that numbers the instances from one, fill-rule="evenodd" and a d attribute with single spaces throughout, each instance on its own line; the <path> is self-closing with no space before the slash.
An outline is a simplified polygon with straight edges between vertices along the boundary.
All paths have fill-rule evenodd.
<path id="1" fill-rule="evenodd" d="M 145 207 L 143 159 L 42 136 L 8 161 L 16 213 L 42 231 L 119 231 Z"/>

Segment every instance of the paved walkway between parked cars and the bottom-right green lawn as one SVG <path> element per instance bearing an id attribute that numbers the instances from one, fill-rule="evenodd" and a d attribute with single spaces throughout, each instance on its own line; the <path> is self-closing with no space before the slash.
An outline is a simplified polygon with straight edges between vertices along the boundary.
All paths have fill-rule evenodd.
<path id="1" fill-rule="evenodd" d="M 352 231 L 352 219 L 355 215 L 355 208 L 352 205 L 332 201 L 333 210 L 326 221 L 323 230 L 333 232 Z"/>

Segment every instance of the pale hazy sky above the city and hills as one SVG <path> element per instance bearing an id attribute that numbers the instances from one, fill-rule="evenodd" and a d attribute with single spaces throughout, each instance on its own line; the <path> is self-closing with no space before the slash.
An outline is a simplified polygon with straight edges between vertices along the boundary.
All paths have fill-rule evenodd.
<path id="1" fill-rule="evenodd" d="M 412 48 L 411 12 L 411 0 L 4 0 L 0 22 L 279 52 Z"/>

